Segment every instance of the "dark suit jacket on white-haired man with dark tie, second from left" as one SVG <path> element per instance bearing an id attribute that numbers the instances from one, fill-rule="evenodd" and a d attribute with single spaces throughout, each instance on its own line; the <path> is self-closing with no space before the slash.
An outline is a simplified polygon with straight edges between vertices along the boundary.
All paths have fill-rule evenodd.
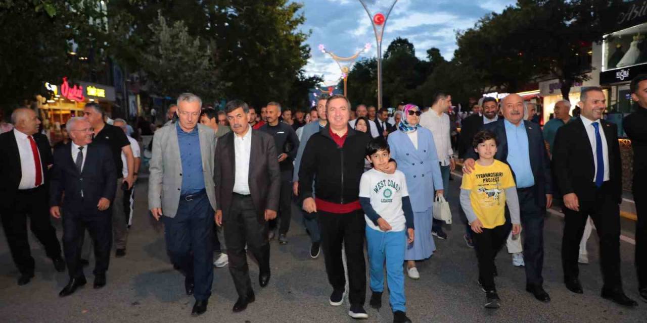
<path id="1" fill-rule="evenodd" d="M 69 142 L 54 151 L 49 205 L 59 206 L 63 192 L 66 211 L 82 212 L 84 207 L 96 207 L 101 198 L 107 198 L 112 205 L 118 176 L 110 149 L 101 143 L 87 145 L 81 173 L 72 160 L 71 149 L 72 143 Z"/>

